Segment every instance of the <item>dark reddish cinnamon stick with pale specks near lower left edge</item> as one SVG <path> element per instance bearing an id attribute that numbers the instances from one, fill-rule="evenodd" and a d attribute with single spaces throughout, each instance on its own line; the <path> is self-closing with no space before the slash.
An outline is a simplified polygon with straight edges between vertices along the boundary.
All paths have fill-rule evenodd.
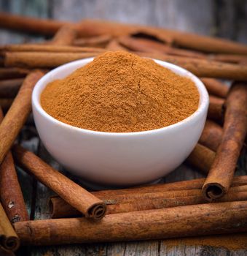
<path id="1" fill-rule="evenodd" d="M 3 118 L 0 108 L 0 122 Z M 0 165 L 0 200 L 10 222 L 29 219 L 10 151 Z"/>

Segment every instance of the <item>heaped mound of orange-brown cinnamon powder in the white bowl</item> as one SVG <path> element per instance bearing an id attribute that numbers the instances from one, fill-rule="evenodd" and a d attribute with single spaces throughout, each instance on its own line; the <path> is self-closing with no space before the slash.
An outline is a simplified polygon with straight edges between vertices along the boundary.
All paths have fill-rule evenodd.
<path id="1" fill-rule="evenodd" d="M 139 132 L 166 127 L 197 110 L 195 84 L 124 51 L 103 53 L 67 78 L 49 83 L 42 108 L 74 127 Z"/>

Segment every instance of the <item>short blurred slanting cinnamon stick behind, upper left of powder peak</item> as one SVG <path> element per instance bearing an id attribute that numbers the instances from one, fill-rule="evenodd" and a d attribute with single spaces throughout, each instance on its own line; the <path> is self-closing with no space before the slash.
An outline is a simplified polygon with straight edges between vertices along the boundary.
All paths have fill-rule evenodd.
<path id="1" fill-rule="evenodd" d="M 51 45 L 72 45 L 77 38 L 77 30 L 73 26 L 62 26 L 49 42 Z"/>

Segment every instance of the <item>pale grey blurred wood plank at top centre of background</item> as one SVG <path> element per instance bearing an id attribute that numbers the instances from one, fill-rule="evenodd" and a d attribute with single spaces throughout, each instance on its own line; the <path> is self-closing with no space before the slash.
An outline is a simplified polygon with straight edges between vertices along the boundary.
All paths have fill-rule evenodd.
<path id="1" fill-rule="evenodd" d="M 77 21 L 82 18 L 98 18 L 155 25 L 154 15 L 152 14 L 154 4 L 149 0 L 54 0 L 54 6 L 52 17 L 60 20 Z"/>

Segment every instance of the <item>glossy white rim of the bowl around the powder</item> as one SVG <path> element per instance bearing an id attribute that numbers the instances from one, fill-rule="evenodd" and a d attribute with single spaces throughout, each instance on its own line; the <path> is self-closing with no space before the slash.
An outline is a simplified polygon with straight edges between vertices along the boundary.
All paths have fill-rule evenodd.
<path id="1" fill-rule="evenodd" d="M 32 108 L 35 108 L 41 116 L 44 118 L 48 119 L 49 121 L 58 124 L 66 129 L 71 129 L 74 132 L 83 132 L 87 133 L 89 135 L 103 135 L 103 136 L 117 136 L 117 137 L 126 137 L 126 136 L 136 136 L 136 135 L 152 135 L 152 134 L 157 134 L 160 132 L 168 132 L 170 129 L 174 129 L 176 127 L 181 127 L 182 125 L 185 125 L 189 123 L 190 121 L 194 120 L 195 118 L 200 117 L 203 115 L 205 111 L 208 110 L 208 105 L 209 105 L 209 96 L 208 96 L 208 91 L 205 89 L 205 86 L 203 82 L 197 78 L 196 75 L 192 74 L 192 72 L 189 72 L 187 69 L 184 69 L 182 67 L 179 67 L 175 64 L 170 64 L 169 62 L 166 61 L 161 61 L 158 59 L 153 59 L 157 64 L 160 64 L 162 67 L 171 69 L 173 72 L 176 72 L 176 74 L 190 78 L 193 80 L 195 83 L 195 86 L 197 87 L 197 90 L 199 92 L 199 105 L 197 110 L 195 110 L 192 115 L 188 116 L 187 118 L 175 123 L 175 124 L 170 124 L 167 127 L 162 127 L 158 129 L 151 129 L 151 130 L 146 130 L 146 131 L 140 131 L 140 132 L 101 132 L 101 131 L 94 131 L 90 129 L 83 129 L 79 127 L 74 127 L 70 124 L 63 123 L 62 121 L 59 121 L 58 119 L 50 116 L 43 108 L 40 103 L 40 95 L 42 94 L 42 91 L 45 89 L 47 86 L 47 78 L 50 78 L 50 76 L 57 74 L 58 72 L 62 72 L 64 69 L 68 68 L 69 66 L 76 66 L 76 69 L 79 67 L 78 64 L 82 64 L 84 66 L 85 64 L 93 61 L 95 57 L 87 58 L 87 59 L 79 59 L 77 61 L 71 61 L 66 64 L 60 65 L 59 67 L 56 67 L 55 69 L 52 69 L 50 72 L 47 72 L 34 86 L 34 90 L 32 93 Z M 152 58 L 148 58 L 152 59 Z M 72 71 L 74 72 L 74 71 Z M 46 83 L 46 85 L 44 85 Z M 40 89 L 42 87 L 42 89 Z"/>

